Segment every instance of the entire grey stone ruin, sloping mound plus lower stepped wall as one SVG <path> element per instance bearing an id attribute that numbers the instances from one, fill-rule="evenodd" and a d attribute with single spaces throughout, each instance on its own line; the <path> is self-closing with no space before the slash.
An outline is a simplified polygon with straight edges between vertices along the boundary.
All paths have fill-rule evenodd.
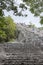
<path id="1" fill-rule="evenodd" d="M 0 65 L 43 65 L 43 34 L 19 25 L 16 42 L 0 43 Z"/>

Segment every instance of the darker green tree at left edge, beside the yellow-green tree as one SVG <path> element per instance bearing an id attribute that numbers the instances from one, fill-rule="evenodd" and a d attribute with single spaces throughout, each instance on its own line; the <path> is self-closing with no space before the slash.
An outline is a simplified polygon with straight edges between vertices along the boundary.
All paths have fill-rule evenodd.
<path id="1" fill-rule="evenodd" d="M 6 26 L 6 22 L 4 22 L 4 17 L 0 18 L 0 42 L 5 41 L 6 39 L 6 33 L 3 30 Z"/>

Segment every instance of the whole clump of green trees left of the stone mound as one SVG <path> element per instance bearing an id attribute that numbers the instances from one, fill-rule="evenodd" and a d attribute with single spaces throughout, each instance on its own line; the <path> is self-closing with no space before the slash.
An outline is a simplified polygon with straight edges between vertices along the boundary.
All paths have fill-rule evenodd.
<path id="1" fill-rule="evenodd" d="M 0 18 L 0 42 L 16 38 L 16 24 L 10 16 Z"/>

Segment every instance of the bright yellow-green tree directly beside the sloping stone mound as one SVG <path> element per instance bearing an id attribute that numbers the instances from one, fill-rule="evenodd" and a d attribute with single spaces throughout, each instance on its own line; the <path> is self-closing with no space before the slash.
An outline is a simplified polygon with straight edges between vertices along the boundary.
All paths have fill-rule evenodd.
<path id="1" fill-rule="evenodd" d="M 7 22 L 7 30 L 6 30 L 6 34 L 8 39 L 10 38 L 15 38 L 16 37 L 16 24 L 13 22 L 13 19 L 8 16 L 5 18 L 5 21 Z"/>

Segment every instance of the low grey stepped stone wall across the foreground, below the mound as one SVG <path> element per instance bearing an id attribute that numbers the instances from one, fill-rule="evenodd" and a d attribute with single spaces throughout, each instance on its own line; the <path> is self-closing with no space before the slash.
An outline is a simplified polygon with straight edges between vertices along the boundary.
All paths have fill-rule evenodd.
<path id="1" fill-rule="evenodd" d="M 0 44 L 0 65 L 43 65 L 43 50 L 32 44 Z"/>

